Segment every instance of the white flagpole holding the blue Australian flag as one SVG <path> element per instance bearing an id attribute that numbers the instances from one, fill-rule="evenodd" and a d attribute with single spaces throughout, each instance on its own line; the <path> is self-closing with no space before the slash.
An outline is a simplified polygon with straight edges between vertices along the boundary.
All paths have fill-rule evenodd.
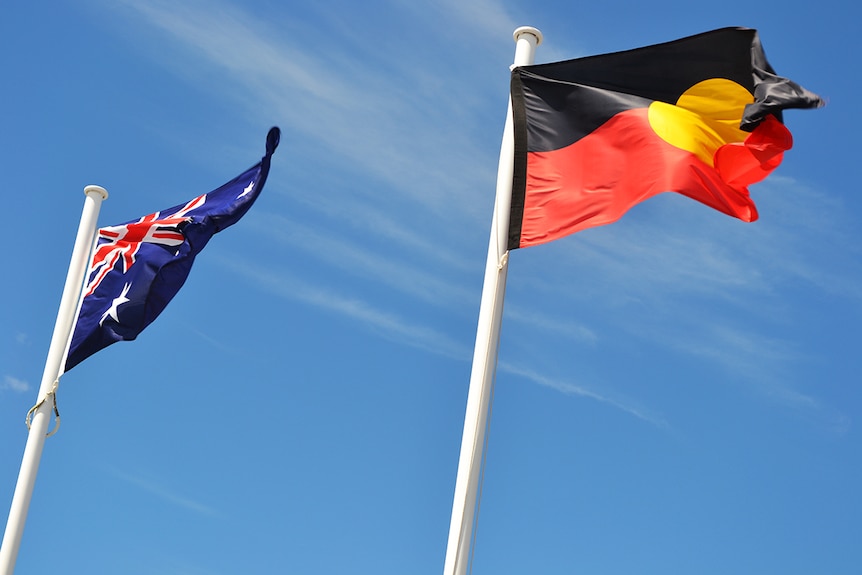
<path id="1" fill-rule="evenodd" d="M 15 569 L 15 560 L 21 546 L 21 535 L 27 520 L 27 509 L 36 483 L 36 472 L 39 470 L 39 460 L 42 457 L 42 448 L 45 445 L 45 437 L 51 421 L 51 411 L 54 409 L 53 395 L 57 391 L 62 375 L 66 346 L 75 321 L 81 286 L 95 240 L 99 210 L 102 201 L 108 197 L 108 192 L 99 186 L 87 186 L 84 188 L 84 196 L 86 199 L 81 222 L 78 225 L 78 235 L 72 249 L 66 284 L 63 287 L 57 321 L 54 324 L 54 334 L 51 336 L 51 345 L 45 360 L 45 371 L 42 373 L 42 384 L 36 398 L 38 407 L 28 414 L 30 432 L 24 447 L 15 494 L 12 496 L 12 507 L 6 522 L 3 544 L 0 547 L 0 575 L 12 575 Z"/>

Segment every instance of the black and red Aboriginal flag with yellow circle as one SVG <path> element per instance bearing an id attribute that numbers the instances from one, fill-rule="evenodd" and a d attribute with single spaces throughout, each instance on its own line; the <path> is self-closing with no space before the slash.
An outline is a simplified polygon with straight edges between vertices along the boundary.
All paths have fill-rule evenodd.
<path id="1" fill-rule="evenodd" d="M 745 28 L 515 68 L 509 249 L 612 223 L 666 191 L 754 221 L 747 186 L 793 143 L 781 111 L 822 105 L 777 76 Z"/>

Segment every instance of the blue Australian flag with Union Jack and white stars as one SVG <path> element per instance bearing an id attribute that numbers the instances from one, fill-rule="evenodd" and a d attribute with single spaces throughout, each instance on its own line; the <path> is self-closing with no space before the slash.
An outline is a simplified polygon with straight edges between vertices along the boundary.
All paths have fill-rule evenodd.
<path id="1" fill-rule="evenodd" d="M 261 161 L 220 188 L 99 230 L 64 371 L 114 342 L 135 339 L 162 313 L 185 283 L 195 256 L 257 199 L 279 136 L 278 128 L 270 129 Z"/>

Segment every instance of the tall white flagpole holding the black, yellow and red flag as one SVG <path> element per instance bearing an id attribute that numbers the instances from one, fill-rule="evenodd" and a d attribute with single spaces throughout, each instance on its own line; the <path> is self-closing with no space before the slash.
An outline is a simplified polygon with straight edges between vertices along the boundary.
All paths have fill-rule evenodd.
<path id="1" fill-rule="evenodd" d="M 542 42 L 542 33 L 535 28 L 523 26 L 515 30 L 513 36 L 515 60 L 512 67 L 532 64 L 536 46 Z M 473 351 L 473 369 L 467 392 L 467 410 L 464 416 L 458 474 L 455 478 L 455 496 L 443 567 L 444 575 L 464 575 L 471 560 L 472 533 L 482 474 L 485 432 L 497 370 L 497 349 L 500 343 L 503 299 L 506 293 L 507 241 L 514 155 L 515 138 L 510 98 L 497 168 L 494 216 L 491 221 L 482 300 L 479 305 L 476 346 Z"/>

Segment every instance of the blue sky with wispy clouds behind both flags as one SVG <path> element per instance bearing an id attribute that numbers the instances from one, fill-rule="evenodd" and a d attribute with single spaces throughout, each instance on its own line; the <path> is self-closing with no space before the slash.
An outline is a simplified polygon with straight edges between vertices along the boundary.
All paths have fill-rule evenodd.
<path id="1" fill-rule="evenodd" d="M 758 222 L 664 194 L 512 253 L 473 573 L 857 573 L 859 14 L 715 9 L 7 6 L 7 502 L 83 187 L 127 221 L 282 129 L 257 204 L 165 313 L 62 379 L 16 573 L 442 571 L 521 25 L 537 62 L 757 28 L 828 105 L 786 114 Z"/>

